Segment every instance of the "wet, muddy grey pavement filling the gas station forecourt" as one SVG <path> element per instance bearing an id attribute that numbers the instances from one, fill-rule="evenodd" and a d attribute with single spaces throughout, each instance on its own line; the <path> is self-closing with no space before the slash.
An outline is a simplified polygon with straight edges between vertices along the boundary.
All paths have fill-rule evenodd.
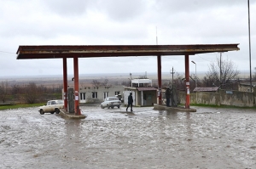
<path id="1" fill-rule="evenodd" d="M 0 168 L 256 168 L 255 110 L 0 111 Z"/>

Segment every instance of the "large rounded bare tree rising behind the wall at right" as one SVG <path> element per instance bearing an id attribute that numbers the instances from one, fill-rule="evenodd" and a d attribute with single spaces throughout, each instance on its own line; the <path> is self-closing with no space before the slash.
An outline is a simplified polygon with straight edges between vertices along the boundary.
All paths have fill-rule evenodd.
<path id="1" fill-rule="evenodd" d="M 220 86 L 235 79 L 239 73 L 237 66 L 230 59 L 222 60 L 220 63 L 220 59 L 217 58 L 217 62 L 209 65 L 204 81 L 214 82 L 216 86 Z"/>

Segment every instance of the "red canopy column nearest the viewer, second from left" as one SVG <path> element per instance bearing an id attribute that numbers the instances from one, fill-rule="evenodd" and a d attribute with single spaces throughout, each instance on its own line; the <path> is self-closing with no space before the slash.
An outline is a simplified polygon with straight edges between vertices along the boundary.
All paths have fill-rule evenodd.
<path id="1" fill-rule="evenodd" d="M 75 115 L 81 115 L 81 111 L 79 109 L 79 58 L 73 58 L 73 74 L 74 74 L 74 112 Z"/>

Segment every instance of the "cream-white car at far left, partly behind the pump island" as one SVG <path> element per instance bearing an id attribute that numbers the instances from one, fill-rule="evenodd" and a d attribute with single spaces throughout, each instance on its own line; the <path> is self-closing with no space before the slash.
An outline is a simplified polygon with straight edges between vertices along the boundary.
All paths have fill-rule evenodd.
<path id="1" fill-rule="evenodd" d="M 63 100 L 49 100 L 47 104 L 39 107 L 39 113 L 44 115 L 44 113 L 51 113 L 51 114 L 59 114 L 60 109 L 64 108 L 64 101 Z"/>

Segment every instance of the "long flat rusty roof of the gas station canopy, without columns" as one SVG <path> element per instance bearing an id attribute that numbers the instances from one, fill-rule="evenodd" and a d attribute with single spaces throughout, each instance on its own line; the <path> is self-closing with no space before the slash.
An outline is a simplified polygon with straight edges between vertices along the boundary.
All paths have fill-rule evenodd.
<path id="1" fill-rule="evenodd" d="M 17 59 L 194 55 L 239 50 L 236 44 L 20 46 Z"/>

